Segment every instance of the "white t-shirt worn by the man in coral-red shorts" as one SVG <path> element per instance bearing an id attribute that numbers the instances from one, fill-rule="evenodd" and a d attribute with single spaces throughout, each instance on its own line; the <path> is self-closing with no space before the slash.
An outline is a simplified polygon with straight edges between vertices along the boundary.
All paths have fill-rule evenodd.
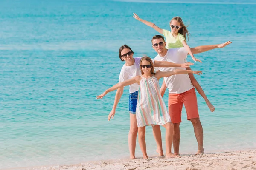
<path id="1" fill-rule="evenodd" d="M 184 47 L 168 49 L 165 56 L 161 57 L 159 54 L 154 58 L 155 61 L 168 61 L 183 64 L 186 62 L 188 51 Z M 154 67 L 155 71 L 172 71 L 174 69 L 184 69 L 180 67 Z M 177 74 L 170 77 L 164 77 L 169 93 L 180 94 L 194 88 L 189 79 L 189 74 Z"/>

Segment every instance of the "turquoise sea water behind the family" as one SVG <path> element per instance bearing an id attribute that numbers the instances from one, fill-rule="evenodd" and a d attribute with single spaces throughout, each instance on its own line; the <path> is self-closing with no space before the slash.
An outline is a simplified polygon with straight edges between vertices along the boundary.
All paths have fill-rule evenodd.
<path id="1" fill-rule="evenodd" d="M 151 47 L 157 32 L 133 12 L 165 29 L 172 17 L 182 17 L 191 47 L 233 42 L 196 54 L 203 63 L 192 66 L 204 72 L 195 77 L 216 108 L 211 113 L 198 94 L 204 149 L 255 149 L 256 4 L 172 2 L 1 0 L 0 169 L 129 157 L 128 87 L 110 122 L 115 92 L 95 96 L 118 82 L 121 45 L 129 45 L 134 57 L 157 55 Z M 182 120 L 180 153 L 195 153 L 184 108 Z M 146 142 L 148 155 L 156 155 L 151 127 Z M 142 156 L 138 144 L 136 156 Z"/>

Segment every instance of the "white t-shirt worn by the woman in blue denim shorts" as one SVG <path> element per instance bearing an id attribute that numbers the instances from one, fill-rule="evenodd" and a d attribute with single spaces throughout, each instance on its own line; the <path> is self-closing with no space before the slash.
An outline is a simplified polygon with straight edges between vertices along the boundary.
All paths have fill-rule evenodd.
<path id="1" fill-rule="evenodd" d="M 141 71 L 140 71 L 140 59 L 142 57 L 135 57 L 135 63 L 131 66 L 126 66 L 123 65 L 120 75 L 119 75 L 119 82 L 124 82 L 128 79 L 131 79 L 135 76 L 140 76 Z M 138 83 L 134 83 L 130 85 L 130 93 L 134 93 L 135 91 L 138 91 L 140 88 L 140 85 Z"/>

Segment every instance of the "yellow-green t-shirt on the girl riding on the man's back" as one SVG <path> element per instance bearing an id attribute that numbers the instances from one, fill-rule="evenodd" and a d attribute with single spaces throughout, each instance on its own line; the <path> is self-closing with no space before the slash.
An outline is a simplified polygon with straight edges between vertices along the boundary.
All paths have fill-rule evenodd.
<path id="1" fill-rule="evenodd" d="M 166 38 L 166 48 L 167 49 L 183 47 L 182 42 L 186 41 L 184 36 L 181 35 L 180 33 L 175 38 L 175 37 L 173 37 L 171 31 L 168 31 L 166 29 L 163 29 L 163 36 Z"/>

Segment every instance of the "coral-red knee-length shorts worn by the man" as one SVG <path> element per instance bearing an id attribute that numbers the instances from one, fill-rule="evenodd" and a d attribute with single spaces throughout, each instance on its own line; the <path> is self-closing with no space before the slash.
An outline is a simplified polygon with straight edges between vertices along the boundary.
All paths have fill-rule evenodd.
<path id="1" fill-rule="evenodd" d="M 180 94 L 169 93 L 168 108 L 172 123 L 181 122 L 183 103 L 186 108 L 188 120 L 199 118 L 195 88 L 192 88 L 189 91 Z"/>

